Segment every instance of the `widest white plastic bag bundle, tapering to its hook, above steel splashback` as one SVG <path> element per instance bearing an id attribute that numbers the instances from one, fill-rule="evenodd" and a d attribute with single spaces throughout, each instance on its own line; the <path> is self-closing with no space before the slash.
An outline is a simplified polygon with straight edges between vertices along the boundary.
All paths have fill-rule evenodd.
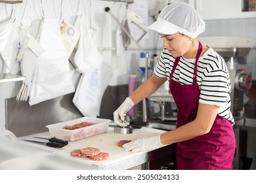
<path id="1" fill-rule="evenodd" d="M 44 20 L 41 26 L 39 43 L 45 52 L 37 58 L 30 105 L 75 91 L 58 20 Z"/>

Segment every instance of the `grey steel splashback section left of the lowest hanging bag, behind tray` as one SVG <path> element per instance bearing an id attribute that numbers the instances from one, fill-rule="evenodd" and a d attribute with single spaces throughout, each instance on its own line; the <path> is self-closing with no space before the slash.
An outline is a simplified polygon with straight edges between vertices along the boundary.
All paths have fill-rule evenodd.
<path id="1" fill-rule="evenodd" d="M 73 98 L 74 93 L 70 93 L 33 106 L 16 98 L 6 99 L 6 127 L 16 137 L 22 137 L 47 131 L 45 126 L 49 124 L 81 118 L 83 114 L 75 107 Z"/>

